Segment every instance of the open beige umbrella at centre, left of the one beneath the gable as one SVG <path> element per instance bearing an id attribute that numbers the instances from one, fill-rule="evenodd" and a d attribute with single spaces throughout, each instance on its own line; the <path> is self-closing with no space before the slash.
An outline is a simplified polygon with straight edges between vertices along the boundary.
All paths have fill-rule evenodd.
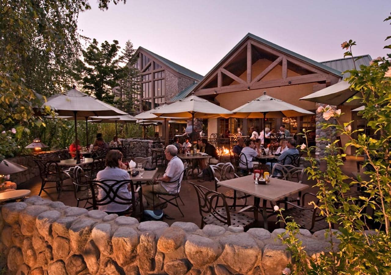
<path id="1" fill-rule="evenodd" d="M 184 119 L 191 118 L 192 132 L 194 132 L 194 118 L 211 119 L 216 117 L 230 117 L 233 114 L 230 110 L 195 95 L 179 99 L 178 101 L 156 109 L 151 113 L 159 117 L 170 116 Z"/>

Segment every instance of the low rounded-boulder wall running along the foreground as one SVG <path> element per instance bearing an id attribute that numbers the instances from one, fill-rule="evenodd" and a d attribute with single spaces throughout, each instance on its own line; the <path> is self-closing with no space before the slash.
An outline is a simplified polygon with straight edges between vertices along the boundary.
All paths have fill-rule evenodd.
<path id="1" fill-rule="evenodd" d="M 139 223 L 39 196 L 3 205 L 0 232 L 2 261 L 11 274 L 280 275 L 291 259 L 276 239 L 283 229 Z M 324 230 L 300 232 L 310 257 L 327 250 Z"/>

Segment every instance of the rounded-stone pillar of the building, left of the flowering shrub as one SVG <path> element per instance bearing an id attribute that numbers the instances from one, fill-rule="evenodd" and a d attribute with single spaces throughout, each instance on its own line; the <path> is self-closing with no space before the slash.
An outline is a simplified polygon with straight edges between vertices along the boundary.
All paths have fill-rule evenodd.
<path id="1" fill-rule="evenodd" d="M 326 107 L 327 104 L 316 103 L 316 109 L 319 108 L 320 106 Z M 336 109 L 336 106 L 332 106 L 332 107 L 334 109 Z M 335 119 L 333 119 L 333 118 L 331 118 L 329 120 L 329 122 L 331 122 L 331 120 L 334 120 L 334 122 L 336 122 Z M 319 113 L 318 111 L 316 111 L 316 138 L 315 138 L 315 141 L 316 141 L 316 147 L 318 147 L 318 148 L 316 149 L 315 154 L 319 155 L 319 158 L 325 156 L 325 149 L 329 143 L 326 140 L 321 140 L 321 138 L 328 138 L 328 139 L 331 139 L 332 141 L 334 141 L 336 138 L 335 127 L 329 127 L 327 129 L 322 129 L 321 122 L 325 122 L 325 121 L 326 120 L 323 118 L 323 113 Z"/>

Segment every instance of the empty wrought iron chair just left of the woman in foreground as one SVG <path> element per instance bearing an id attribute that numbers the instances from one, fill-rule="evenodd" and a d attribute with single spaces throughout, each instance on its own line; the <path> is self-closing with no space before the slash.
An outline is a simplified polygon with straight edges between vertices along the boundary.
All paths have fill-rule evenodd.
<path id="1" fill-rule="evenodd" d="M 90 190 L 90 186 L 88 185 L 88 180 L 92 180 L 89 176 L 87 176 L 83 169 L 80 166 L 71 167 L 65 173 L 68 174 L 69 177 L 73 178 L 73 186 L 74 186 L 74 195 L 77 201 L 76 207 L 79 207 L 79 203 L 85 201 L 83 208 L 86 208 L 87 204 L 90 204 L 87 209 L 92 207 L 92 194 Z M 71 176 L 72 175 L 72 176 Z"/>

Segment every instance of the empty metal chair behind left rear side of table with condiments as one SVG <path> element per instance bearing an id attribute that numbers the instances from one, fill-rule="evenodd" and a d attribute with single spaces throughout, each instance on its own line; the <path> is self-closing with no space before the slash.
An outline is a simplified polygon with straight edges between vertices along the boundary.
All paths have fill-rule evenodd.
<path id="1" fill-rule="evenodd" d="M 230 180 L 232 178 L 239 178 L 239 176 L 235 173 L 235 168 L 233 167 L 233 165 L 230 162 L 218 163 L 216 165 L 209 165 L 209 166 L 212 169 L 213 178 L 215 180 L 215 191 L 216 192 L 217 192 L 217 188 L 220 187 L 219 182 L 221 182 L 223 180 Z M 242 207 L 246 206 L 247 205 L 247 198 L 250 196 L 250 195 L 247 195 L 243 192 L 236 191 L 234 189 L 229 189 L 229 190 L 225 191 L 223 194 L 224 194 L 224 196 L 226 196 L 226 198 L 233 200 L 233 204 L 231 205 L 231 207 L 233 207 L 233 209 L 236 209 L 237 206 L 242 206 Z M 243 200 L 243 199 L 245 200 L 244 205 L 237 205 L 236 204 L 237 200 Z"/>

